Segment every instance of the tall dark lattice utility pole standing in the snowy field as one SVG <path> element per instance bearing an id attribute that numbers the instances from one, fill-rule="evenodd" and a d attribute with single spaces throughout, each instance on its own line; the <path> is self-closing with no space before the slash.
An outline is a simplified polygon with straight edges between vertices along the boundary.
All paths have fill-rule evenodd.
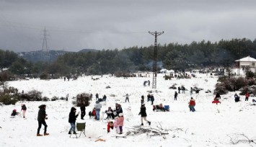
<path id="1" fill-rule="evenodd" d="M 156 89 L 156 74 L 157 74 L 157 66 L 156 66 L 156 61 L 157 61 L 157 36 L 162 35 L 163 32 L 150 32 L 149 34 L 154 36 L 154 63 L 153 63 L 153 82 L 152 82 L 152 89 Z"/>

